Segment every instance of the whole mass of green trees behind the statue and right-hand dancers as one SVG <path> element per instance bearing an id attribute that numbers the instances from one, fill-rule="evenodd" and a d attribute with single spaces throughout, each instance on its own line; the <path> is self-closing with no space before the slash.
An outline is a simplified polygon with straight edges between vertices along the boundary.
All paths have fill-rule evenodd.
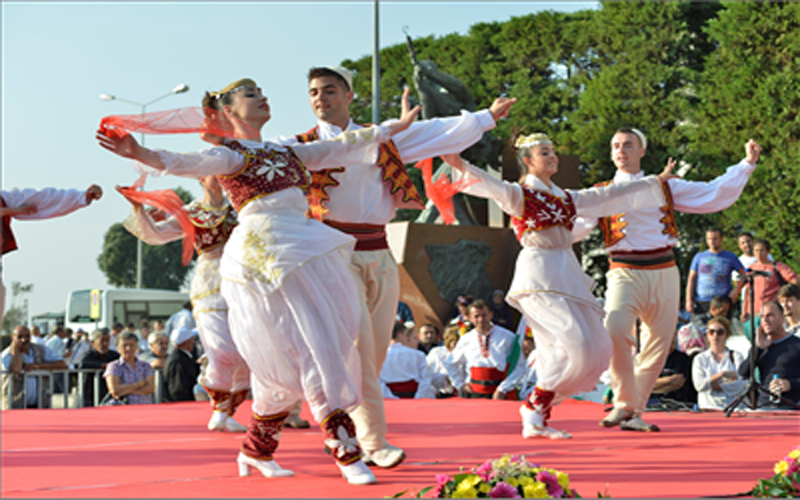
<path id="1" fill-rule="evenodd" d="M 692 181 L 724 173 L 754 138 L 764 147 L 762 160 L 737 203 L 717 214 L 677 214 L 679 267 L 688 269 L 702 249 L 705 229 L 720 226 L 726 249 L 737 250 L 739 231 L 755 231 L 773 243 L 776 258 L 798 269 L 798 24 L 800 4 L 793 2 L 603 2 L 598 10 L 539 12 L 413 43 L 418 59 L 464 82 L 478 109 L 500 95 L 517 98 L 509 120 L 492 133 L 513 140 L 547 132 L 560 154 L 580 157 L 584 186 L 614 175 L 609 141 L 620 126 L 647 134 L 646 173 L 660 172 L 672 157 Z M 367 122 L 371 57 L 343 65 L 357 74 L 354 117 Z M 381 72 L 386 119 L 399 115 L 403 85 L 413 85 L 405 44 L 381 51 Z M 602 290 L 607 263 L 600 248 L 599 234 L 583 244 L 590 254 L 584 268 Z"/>

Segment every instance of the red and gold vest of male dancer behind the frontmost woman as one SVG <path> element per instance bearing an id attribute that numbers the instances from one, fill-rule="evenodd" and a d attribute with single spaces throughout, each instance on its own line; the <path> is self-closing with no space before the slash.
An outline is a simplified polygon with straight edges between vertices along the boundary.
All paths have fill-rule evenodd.
<path id="1" fill-rule="evenodd" d="M 295 138 L 302 143 L 319 140 L 319 129 L 314 127 L 305 134 L 297 134 Z M 397 151 L 397 146 L 395 146 L 394 142 L 390 140 L 380 145 L 376 165 L 383 171 L 383 182 L 389 183 L 392 194 L 402 190 L 403 201 L 418 202 L 424 206 L 422 197 L 417 192 L 411 176 L 408 175 L 400 157 L 400 152 Z M 306 195 L 308 198 L 309 217 L 321 221 L 330 212 L 325 205 L 331 199 L 327 191 L 330 187 L 339 185 L 339 181 L 334 179 L 332 174 L 344 172 L 344 170 L 345 167 L 336 167 L 311 172 L 311 187 Z"/>

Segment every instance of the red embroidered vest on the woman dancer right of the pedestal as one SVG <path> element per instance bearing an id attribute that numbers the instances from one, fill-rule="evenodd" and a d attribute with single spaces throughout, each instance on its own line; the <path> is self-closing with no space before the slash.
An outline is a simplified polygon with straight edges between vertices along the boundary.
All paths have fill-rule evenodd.
<path id="1" fill-rule="evenodd" d="M 564 226 L 572 231 L 576 212 L 569 193 L 564 198 L 559 198 L 530 186 L 522 186 L 522 193 L 525 197 L 525 211 L 522 217 L 511 218 L 518 240 L 521 241 L 528 231 L 541 231 L 555 226 Z"/>

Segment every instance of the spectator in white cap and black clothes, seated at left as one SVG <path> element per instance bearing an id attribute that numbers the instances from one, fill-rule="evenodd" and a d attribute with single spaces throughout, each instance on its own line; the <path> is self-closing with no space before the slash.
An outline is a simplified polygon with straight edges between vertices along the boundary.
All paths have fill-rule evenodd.
<path id="1" fill-rule="evenodd" d="M 182 326 L 173 330 L 170 340 L 175 349 L 167 356 L 164 383 L 167 401 L 194 401 L 194 386 L 200 375 L 198 358 L 194 357 L 197 330 Z"/>

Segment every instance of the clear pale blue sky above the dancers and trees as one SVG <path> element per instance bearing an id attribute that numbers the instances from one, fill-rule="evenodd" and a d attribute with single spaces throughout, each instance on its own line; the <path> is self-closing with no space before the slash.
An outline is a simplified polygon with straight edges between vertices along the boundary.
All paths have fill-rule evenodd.
<path id="1" fill-rule="evenodd" d="M 136 174 L 128 160 L 100 148 L 94 132 L 102 117 L 147 108 L 198 106 L 206 91 L 253 78 L 268 97 L 272 120 L 265 138 L 308 130 L 316 118 L 308 104 L 306 74 L 372 53 L 373 2 L 9 2 L 2 5 L 3 189 L 79 188 L 99 184 L 102 200 L 66 217 L 13 221 L 19 250 L 2 259 L 11 283 L 33 284 L 31 315 L 62 312 L 70 291 L 113 288 L 97 267 L 103 236 L 122 222 L 130 205 L 114 186 Z M 480 22 L 507 21 L 544 10 L 574 12 L 597 2 L 381 1 L 381 48 L 412 38 L 466 34 Z M 365 75 L 364 77 L 371 78 Z M 174 151 L 207 147 L 195 136 L 148 136 L 146 146 Z M 196 181 L 149 179 L 146 189 Z M 188 280 L 187 280 L 188 286 Z"/>

